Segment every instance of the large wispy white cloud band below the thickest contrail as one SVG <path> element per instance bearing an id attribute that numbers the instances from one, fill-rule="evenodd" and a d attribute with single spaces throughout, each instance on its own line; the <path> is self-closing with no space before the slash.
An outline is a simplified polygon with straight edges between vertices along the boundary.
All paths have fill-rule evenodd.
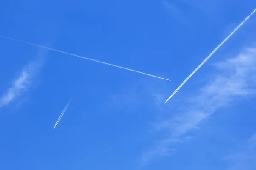
<path id="1" fill-rule="evenodd" d="M 167 135 L 154 149 L 143 154 L 143 163 L 169 155 L 173 144 L 183 142 L 189 131 L 199 129 L 199 124 L 219 108 L 256 94 L 255 65 L 256 48 L 246 48 L 236 57 L 216 63 L 218 73 L 211 75 L 210 82 L 201 88 L 198 95 L 187 99 L 186 108 L 155 124 L 157 130 Z"/>

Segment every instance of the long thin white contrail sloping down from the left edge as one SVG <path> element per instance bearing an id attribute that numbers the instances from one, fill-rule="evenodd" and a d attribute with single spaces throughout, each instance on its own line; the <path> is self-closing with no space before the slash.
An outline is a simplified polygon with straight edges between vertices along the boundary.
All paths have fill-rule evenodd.
<path id="1" fill-rule="evenodd" d="M 82 58 L 82 59 L 87 59 L 87 60 L 90 60 L 90 61 L 99 62 L 99 63 L 106 64 L 106 65 L 111 65 L 111 66 L 114 66 L 114 67 L 117 67 L 117 68 L 122 68 L 122 69 L 125 69 L 125 70 L 134 71 L 136 73 L 145 74 L 147 76 L 156 77 L 156 78 L 159 78 L 159 79 L 165 79 L 165 78 L 162 78 L 162 77 L 154 76 L 152 74 L 147 74 L 147 73 L 143 73 L 141 71 L 132 70 L 130 68 L 125 68 L 125 67 L 121 67 L 121 66 L 118 66 L 118 65 L 109 64 L 107 62 L 98 61 L 96 59 L 90 59 L 90 58 L 82 57 L 82 56 L 79 56 L 79 55 L 76 55 L 76 54 L 71 54 L 71 53 L 67 53 L 67 52 L 64 52 L 64 51 L 56 50 L 54 48 L 49 48 L 49 47 L 45 47 L 45 46 L 42 46 L 42 45 L 36 45 L 36 44 L 30 43 L 30 42 L 25 42 L 25 41 L 17 40 L 17 39 L 5 37 L 5 36 L 2 36 L 2 35 L 0 35 L 0 37 L 6 38 L 6 39 L 9 39 L 9 40 L 14 40 L 14 41 L 17 41 L 17 42 L 22 42 L 24 44 L 33 45 L 33 46 L 40 47 L 40 48 L 45 48 L 45 49 L 48 49 L 48 50 L 51 50 L 51 51 L 56 51 L 56 52 L 59 52 L 59 53 L 70 55 L 70 56 L 75 56 L 75 57 L 79 57 L 79 58 Z M 165 80 L 170 81 L 169 79 L 165 79 Z"/>

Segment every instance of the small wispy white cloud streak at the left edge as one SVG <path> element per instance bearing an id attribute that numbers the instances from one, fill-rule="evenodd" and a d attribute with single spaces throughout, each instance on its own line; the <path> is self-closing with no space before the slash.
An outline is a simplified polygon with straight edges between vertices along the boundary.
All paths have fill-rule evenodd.
<path id="1" fill-rule="evenodd" d="M 19 77 L 13 81 L 11 87 L 0 97 L 0 108 L 9 105 L 9 103 L 29 89 L 32 85 L 33 78 L 36 76 L 43 63 L 42 58 L 39 58 L 24 66 Z"/>

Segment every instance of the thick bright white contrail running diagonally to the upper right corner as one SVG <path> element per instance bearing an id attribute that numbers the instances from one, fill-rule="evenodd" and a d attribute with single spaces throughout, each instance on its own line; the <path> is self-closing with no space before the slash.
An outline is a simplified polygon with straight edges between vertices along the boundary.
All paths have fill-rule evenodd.
<path id="1" fill-rule="evenodd" d="M 221 47 L 221 45 L 223 45 L 223 44 L 236 32 L 236 30 L 238 30 L 255 12 L 256 12 L 256 9 L 254 9 L 254 10 L 252 11 L 252 13 L 250 13 L 250 15 L 247 16 L 247 17 L 243 20 L 243 22 L 241 22 L 241 23 L 239 24 L 239 26 L 237 26 L 237 27 L 234 29 L 234 31 L 232 31 L 232 32 L 227 36 L 227 38 L 225 38 L 225 40 L 223 40 L 223 41 L 221 42 L 221 44 L 218 45 L 218 47 L 216 47 L 216 48 L 211 52 L 211 54 L 209 54 L 208 57 L 206 57 L 206 59 L 204 59 L 203 62 L 201 62 L 200 65 L 198 65 L 198 67 L 189 75 L 189 77 L 187 77 L 187 78 L 180 84 L 180 86 L 172 93 L 172 95 L 166 100 L 166 102 L 168 102 L 168 100 L 171 99 L 173 95 L 175 95 L 175 93 L 190 79 L 190 77 L 192 77 L 193 74 L 195 74 L 195 72 L 198 71 L 198 69 L 199 69 L 199 68 L 200 68 L 200 67 L 201 67 L 201 66 L 202 66 L 202 65 L 220 48 L 220 47 Z M 164 103 L 166 103 L 166 102 L 164 102 Z"/>

